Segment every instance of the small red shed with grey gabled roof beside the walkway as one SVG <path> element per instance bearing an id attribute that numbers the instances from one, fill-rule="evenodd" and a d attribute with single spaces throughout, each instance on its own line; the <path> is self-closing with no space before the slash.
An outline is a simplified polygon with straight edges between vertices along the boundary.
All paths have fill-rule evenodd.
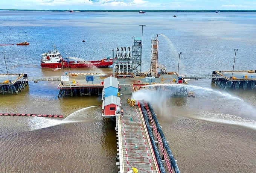
<path id="1" fill-rule="evenodd" d="M 120 98 L 116 96 L 105 97 L 104 101 L 104 115 L 116 115 L 117 106 L 121 106 Z"/>

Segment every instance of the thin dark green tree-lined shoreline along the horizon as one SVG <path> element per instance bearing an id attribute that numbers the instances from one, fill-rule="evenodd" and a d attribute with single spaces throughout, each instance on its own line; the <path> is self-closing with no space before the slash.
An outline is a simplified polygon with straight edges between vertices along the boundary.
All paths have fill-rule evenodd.
<path id="1" fill-rule="evenodd" d="M 53 11 L 66 12 L 69 10 L 19 10 L 19 9 L 0 9 L 6 11 Z M 74 12 L 139 12 L 139 10 L 73 10 Z M 143 10 L 144 12 L 216 12 L 216 10 Z M 217 10 L 218 12 L 256 12 L 256 10 Z"/>

